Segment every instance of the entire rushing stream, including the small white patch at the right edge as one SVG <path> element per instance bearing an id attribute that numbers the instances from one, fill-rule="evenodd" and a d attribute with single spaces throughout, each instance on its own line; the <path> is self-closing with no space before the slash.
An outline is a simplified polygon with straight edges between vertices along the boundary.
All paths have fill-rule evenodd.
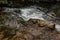
<path id="1" fill-rule="evenodd" d="M 41 7 L 39 7 L 42 10 L 47 11 L 46 9 L 43 9 Z M 57 24 L 58 20 L 52 18 L 51 14 L 54 12 L 49 12 L 49 13 L 45 13 L 44 11 L 39 10 L 38 7 L 25 7 L 25 8 L 6 8 L 4 7 L 4 12 L 12 12 L 13 13 L 13 17 L 22 17 L 25 21 L 29 20 L 29 19 L 41 19 L 41 20 L 48 20 L 48 21 L 53 21 L 56 26 L 55 28 L 60 31 L 60 25 Z"/>

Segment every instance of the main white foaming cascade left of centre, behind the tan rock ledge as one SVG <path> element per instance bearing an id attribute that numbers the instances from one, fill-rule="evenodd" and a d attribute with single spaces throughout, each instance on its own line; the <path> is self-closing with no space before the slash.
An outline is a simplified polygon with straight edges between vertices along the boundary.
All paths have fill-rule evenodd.
<path id="1" fill-rule="evenodd" d="M 41 19 L 44 20 L 42 17 L 44 12 L 40 11 L 36 8 L 5 8 L 3 12 L 13 12 L 15 16 L 22 17 L 25 21 L 28 21 L 30 18 L 33 19 Z"/>

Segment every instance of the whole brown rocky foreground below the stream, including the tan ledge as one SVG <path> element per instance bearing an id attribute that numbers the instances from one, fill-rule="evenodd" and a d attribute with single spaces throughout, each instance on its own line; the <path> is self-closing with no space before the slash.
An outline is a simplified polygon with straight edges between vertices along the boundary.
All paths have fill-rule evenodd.
<path id="1" fill-rule="evenodd" d="M 0 40 L 60 40 L 60 35 L 53 22 L 39 19 L 17 22 L 19 27 L 14 23 L 13 26 L 0 26 Z"/>

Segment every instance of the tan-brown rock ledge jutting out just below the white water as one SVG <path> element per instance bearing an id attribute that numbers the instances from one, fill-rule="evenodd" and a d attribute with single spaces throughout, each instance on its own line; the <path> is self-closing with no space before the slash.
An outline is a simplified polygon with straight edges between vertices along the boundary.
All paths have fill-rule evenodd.
<path id="1" fill-rule="evenodd" d="M 38 20 L 38 19 L 37 19 Z M 48 22 L 48 21 L 43 21 L 43 20 L 35 20 L 35 19 L 30 19 L 29 22 L 32 22 L 33 24 L 38 24 L 40 27 L 42 26 L 47 26 L 48 28 L 55 28 L 55 24 L 53 22 Z"/>

